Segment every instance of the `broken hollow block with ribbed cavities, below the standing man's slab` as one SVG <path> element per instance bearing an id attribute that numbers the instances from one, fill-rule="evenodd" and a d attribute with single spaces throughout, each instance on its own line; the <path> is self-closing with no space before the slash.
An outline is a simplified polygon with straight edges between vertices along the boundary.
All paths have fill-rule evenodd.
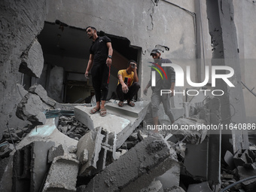
<path id="1" fill-rule="evenodd" d="M 88 151 L 88 160 L 84 162 L 84 149 Z M 108 133 L 102 127 L 90 130 L 78 142 L 77 157 L 80 161 L 79 176 L 94 175 L 105 169 L 115 160 L 116 135 Z"/>

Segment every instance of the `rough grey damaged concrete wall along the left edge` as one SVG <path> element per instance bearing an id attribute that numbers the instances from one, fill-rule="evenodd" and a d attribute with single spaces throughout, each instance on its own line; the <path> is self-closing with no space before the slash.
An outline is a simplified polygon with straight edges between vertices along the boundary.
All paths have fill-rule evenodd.
<path id="1" fill-rule="evenodd" d="M 22 81 L 22 74 L 19 72 L 20 64 L 23 62 L 21 56 L 41 32 L 46 14 L 45 0 L 0 2 L 0 139 L 2 132 L 7 129 L 6 123 L 15 128 L 23 126 L 23 121 L 15 115 L 17 104 L 21 100 L 16 85 Z M 38 64 L 43 65 L 30 63 L 32 66 Z"/>

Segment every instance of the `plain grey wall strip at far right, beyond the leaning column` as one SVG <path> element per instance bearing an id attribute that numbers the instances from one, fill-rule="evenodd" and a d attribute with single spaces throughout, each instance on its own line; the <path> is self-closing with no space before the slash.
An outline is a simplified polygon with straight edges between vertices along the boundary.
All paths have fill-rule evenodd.
<path id="1" fill-rule="evenodd" d="M 254 24 L 254 15 L 256 14 L 256 2 L 254 1 L 233 1 L 234 5 L 234 21 L 236 23 L 236 31 L 238 36 L 239 57 L 242 72 L 242 82 L 247 87 L 253 89 L 256 86 L 254 72 L 256 70 L 256 38 Z M 255 90 L 253 90 L 255 93 Z M 251 103 L 256 102 L 256 97 L 247 89 L 243 89 L 245 97 L 245 112 L 248 123 L 256 123 L 256 108 Z"/>

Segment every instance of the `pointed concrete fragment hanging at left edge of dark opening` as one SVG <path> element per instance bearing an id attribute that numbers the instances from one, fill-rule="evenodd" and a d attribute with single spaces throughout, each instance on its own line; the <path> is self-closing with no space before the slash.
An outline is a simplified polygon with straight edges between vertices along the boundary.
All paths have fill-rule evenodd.
<path id="1" fill-rule="evenodd" d="M 32 44 L 20 56 L 21 63 L 19 72 L 31 77 L 40 78 L 44 68 L 44 56 L 41 44 L 35 38 Z"/>

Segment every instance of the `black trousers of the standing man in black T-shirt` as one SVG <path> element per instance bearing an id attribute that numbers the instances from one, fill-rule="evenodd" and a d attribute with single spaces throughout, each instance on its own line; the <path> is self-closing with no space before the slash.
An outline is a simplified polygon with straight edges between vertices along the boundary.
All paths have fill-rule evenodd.
<path id="1" fill-rule="evenodd" d="M 102 65 L 93 65 L 91 72 L 96 102 L 100 102 L 101 99 L 105 101 L 108 96 L 110 68 L 105 63 Z"/>

